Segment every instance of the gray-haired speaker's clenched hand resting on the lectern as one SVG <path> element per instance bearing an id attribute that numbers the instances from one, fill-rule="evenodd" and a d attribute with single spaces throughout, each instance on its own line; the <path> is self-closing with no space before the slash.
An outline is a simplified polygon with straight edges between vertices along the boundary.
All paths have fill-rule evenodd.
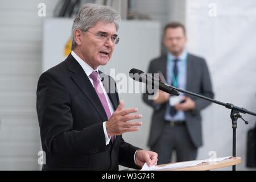
<path id="1" fill-rule="evenodd" d="M 152 151 L 138 150 L 135 155 L 135 161 L 139 167 L 142 167 L 144 163 L 148 166 L 154 166 L 158 162 L 158 154 Z"/>

